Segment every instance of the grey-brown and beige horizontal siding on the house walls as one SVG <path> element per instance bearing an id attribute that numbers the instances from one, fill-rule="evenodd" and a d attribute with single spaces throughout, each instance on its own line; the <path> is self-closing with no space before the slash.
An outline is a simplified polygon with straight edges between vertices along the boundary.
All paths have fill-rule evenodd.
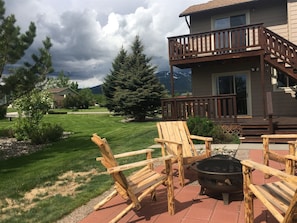
<path id="1" fill-rule="evenodd" d="M 229 10 L 229 9 L 228 9 Z M 209 13 L 192 14 L 190 33 L 201 33 L 213 30 L 213 18 L 227 15 L 240 14 L 243 10 L 226 9 L 213 10 Z M 297 45 L 297 0 L 287 1 L 269 1 L 269 4 L 251 5 L 245 9 L 247 15 L 247 24 L 263 23 L 265 27 L 288 39 Z M 273 15 L 273 16 L 272 16 Z M 288 21 L 290 21 L 288 23 Z M 290 32 L 289 32 L 290 30 Z M 238 61 L 224 61 L 205 63 L 192 67 L 192 94 L 194 96 L 212 95 L 213 83 L 212 75 L 219 73 L 228 73 L 234 71 L 250 71 L 251 67 L 260 67 L 260 58 L 239 59 Z M 275 116 L 296 116 L 297 100 L 290 94 L 281 90 L 275 90 L 271 84 L 271 74 L 265 74 L 265 90 L 262 90 L 262 79 L 260 71 L 250 71 L 251 88 L 251 114 L 252 116 L 264 115 L 264 98 L 266 92 L 271 92 L 273 115 Z M 264 95 L 263 95 L 264 94 Z"/>

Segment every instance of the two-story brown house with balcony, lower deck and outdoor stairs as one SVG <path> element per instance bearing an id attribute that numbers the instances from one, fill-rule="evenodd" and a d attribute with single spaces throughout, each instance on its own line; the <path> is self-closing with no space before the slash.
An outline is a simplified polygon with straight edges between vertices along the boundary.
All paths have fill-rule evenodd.
<path id="1" fill-rule="evenodd" d="M 179 16 L 190 34 L 168 37 L 169 63 L 191 68 L 193 96 L 164 99 L 164 119 L 297 117 L 297 0 L 212 0 Z"/>

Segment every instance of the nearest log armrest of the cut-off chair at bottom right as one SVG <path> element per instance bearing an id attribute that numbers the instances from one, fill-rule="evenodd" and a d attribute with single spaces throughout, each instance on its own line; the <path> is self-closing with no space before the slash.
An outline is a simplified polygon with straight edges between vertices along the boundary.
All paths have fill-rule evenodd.
<path id="1" fill-rule="evenodd" d="M 264 174 L 276 176 L 281 180 L 288 181 L 288 182 L 294 182 L 294 183 L 297 184 L 297 176 L 287 174 L 287 173 L 285 173 L 283 171 L 280 171 L 280 170 L 277 170 L 275 168 L 266 166 L 264 164 L 254 162 L 252 160 L 242 160 L 241 164 L 243 166 L 248 167 L 249 169 L 259 170 L 259 171 L 263 172 Z"/>

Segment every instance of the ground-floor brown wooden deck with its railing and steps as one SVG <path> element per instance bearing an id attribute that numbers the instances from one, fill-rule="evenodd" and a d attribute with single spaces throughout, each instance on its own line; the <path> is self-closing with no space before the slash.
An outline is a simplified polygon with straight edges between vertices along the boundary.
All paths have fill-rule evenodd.
<path id="1" fill-rule="evenodd" d="M 206 117 L 221 124 L 225 131 L 245 137 L 242 142 L 261 142 L 263 134 L 297 133 L 297 116 L 264 118 L 264 115 L 237 115 L 235 95 L 167 98 L 161 100 L 161 107 L 164 121 Z"/>

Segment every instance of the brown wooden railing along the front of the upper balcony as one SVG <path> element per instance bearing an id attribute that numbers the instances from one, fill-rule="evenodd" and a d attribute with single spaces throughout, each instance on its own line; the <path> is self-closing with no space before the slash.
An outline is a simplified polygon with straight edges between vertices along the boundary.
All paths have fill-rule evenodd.
<path id="1" fill-rule="evenodd" d="M 262 49 L 262 24 L 168 38 L 169 60 L 197 58 Z"/>

